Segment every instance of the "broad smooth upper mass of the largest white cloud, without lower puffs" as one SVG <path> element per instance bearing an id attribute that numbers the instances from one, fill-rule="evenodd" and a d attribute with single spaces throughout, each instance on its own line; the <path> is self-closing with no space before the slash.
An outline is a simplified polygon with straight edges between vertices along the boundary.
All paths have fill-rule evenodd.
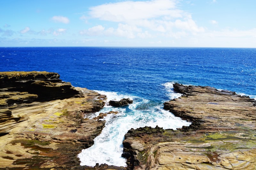
<path id="1" fill-rule="evenodd" d="M 161 16 L 181 17 L 175 0 L 126 1 L 90 8 L 90 15 L 101 20 L 127 22 Z"/>

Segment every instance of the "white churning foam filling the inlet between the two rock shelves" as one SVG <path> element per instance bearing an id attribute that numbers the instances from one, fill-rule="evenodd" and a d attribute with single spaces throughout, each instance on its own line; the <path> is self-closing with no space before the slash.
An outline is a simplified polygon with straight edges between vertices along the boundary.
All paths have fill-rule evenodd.
<path id="1" fill-rule="evenodd" d="M 126 159 L 122 158 L 124 135 L 131 128 L 151 126 L 163 127 L 164 129 L 181 128 L 183 125 L 189 126 L 189 122 L 175 117 L 169 111 L 162 109 L 162 104 L 156 106 L 155 103 L 136 96 L 118 94 L 116 92 L 97 91 L 107 95 L 109 100 L 120 100 L 122 98 L 133 99 L 133 103 L 128 107 L 103 107 L 100 112 L 118 111 L 114 115 L 110 114 L 103 118 L 106 120 L 105 127 L 101 134 L 94 139 L 94 144 L 82 150 L 78 157 L 80 165 L 95 166 L 96 163 L 114 166 L 127 166 Z M 98 114 L 98 113 L 97 113 Z"/>

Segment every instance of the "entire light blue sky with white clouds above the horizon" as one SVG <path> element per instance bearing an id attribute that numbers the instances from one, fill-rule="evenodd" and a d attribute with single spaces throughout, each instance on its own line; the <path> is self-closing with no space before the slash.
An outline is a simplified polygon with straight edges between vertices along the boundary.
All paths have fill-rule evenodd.
<path id="1" fill-rule="evenodd" d="M 256 48 L 255 0 L 1 0 L 0 47 Z"/>

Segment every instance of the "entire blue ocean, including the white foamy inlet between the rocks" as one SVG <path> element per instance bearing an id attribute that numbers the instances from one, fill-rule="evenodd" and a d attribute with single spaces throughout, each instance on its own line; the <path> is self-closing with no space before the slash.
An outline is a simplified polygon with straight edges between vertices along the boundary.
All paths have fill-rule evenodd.
<path id="1" fill-rule="evenodd" d="M 81 165 L 88 166 L 126 166 L 122 141 L 131 128 L 188 126 L 163 109 L 164 101 L 181 95 L 173 91 L 175 82 L 256 99 L 256 48 L 1 47 L 0 71 L 57 72 L 63 81 L 106 94 L 108 100 L 134 100 L 100 111 L 119 113 L 104 118 L 105 128 L 94 145 L 78 155 Z"/>

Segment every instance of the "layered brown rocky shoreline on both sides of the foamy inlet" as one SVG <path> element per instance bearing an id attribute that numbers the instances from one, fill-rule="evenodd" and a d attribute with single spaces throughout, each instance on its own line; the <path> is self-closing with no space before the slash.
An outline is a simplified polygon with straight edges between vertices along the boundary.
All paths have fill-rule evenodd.
<path id="1" fill-rule="evenodd" d="M 123 141 L 127 167 L 89 167 L 77 154 L 101 133 L 100 119 L 116 112 L 84 116 L 99 111 L 106 96 L 57 73 L 0 72 L 0 169 L 255 169 L 255 100 L 208 86 L 173 87 L 183 95 L 164 109 L 190 126 L 130 129 Z"/>

